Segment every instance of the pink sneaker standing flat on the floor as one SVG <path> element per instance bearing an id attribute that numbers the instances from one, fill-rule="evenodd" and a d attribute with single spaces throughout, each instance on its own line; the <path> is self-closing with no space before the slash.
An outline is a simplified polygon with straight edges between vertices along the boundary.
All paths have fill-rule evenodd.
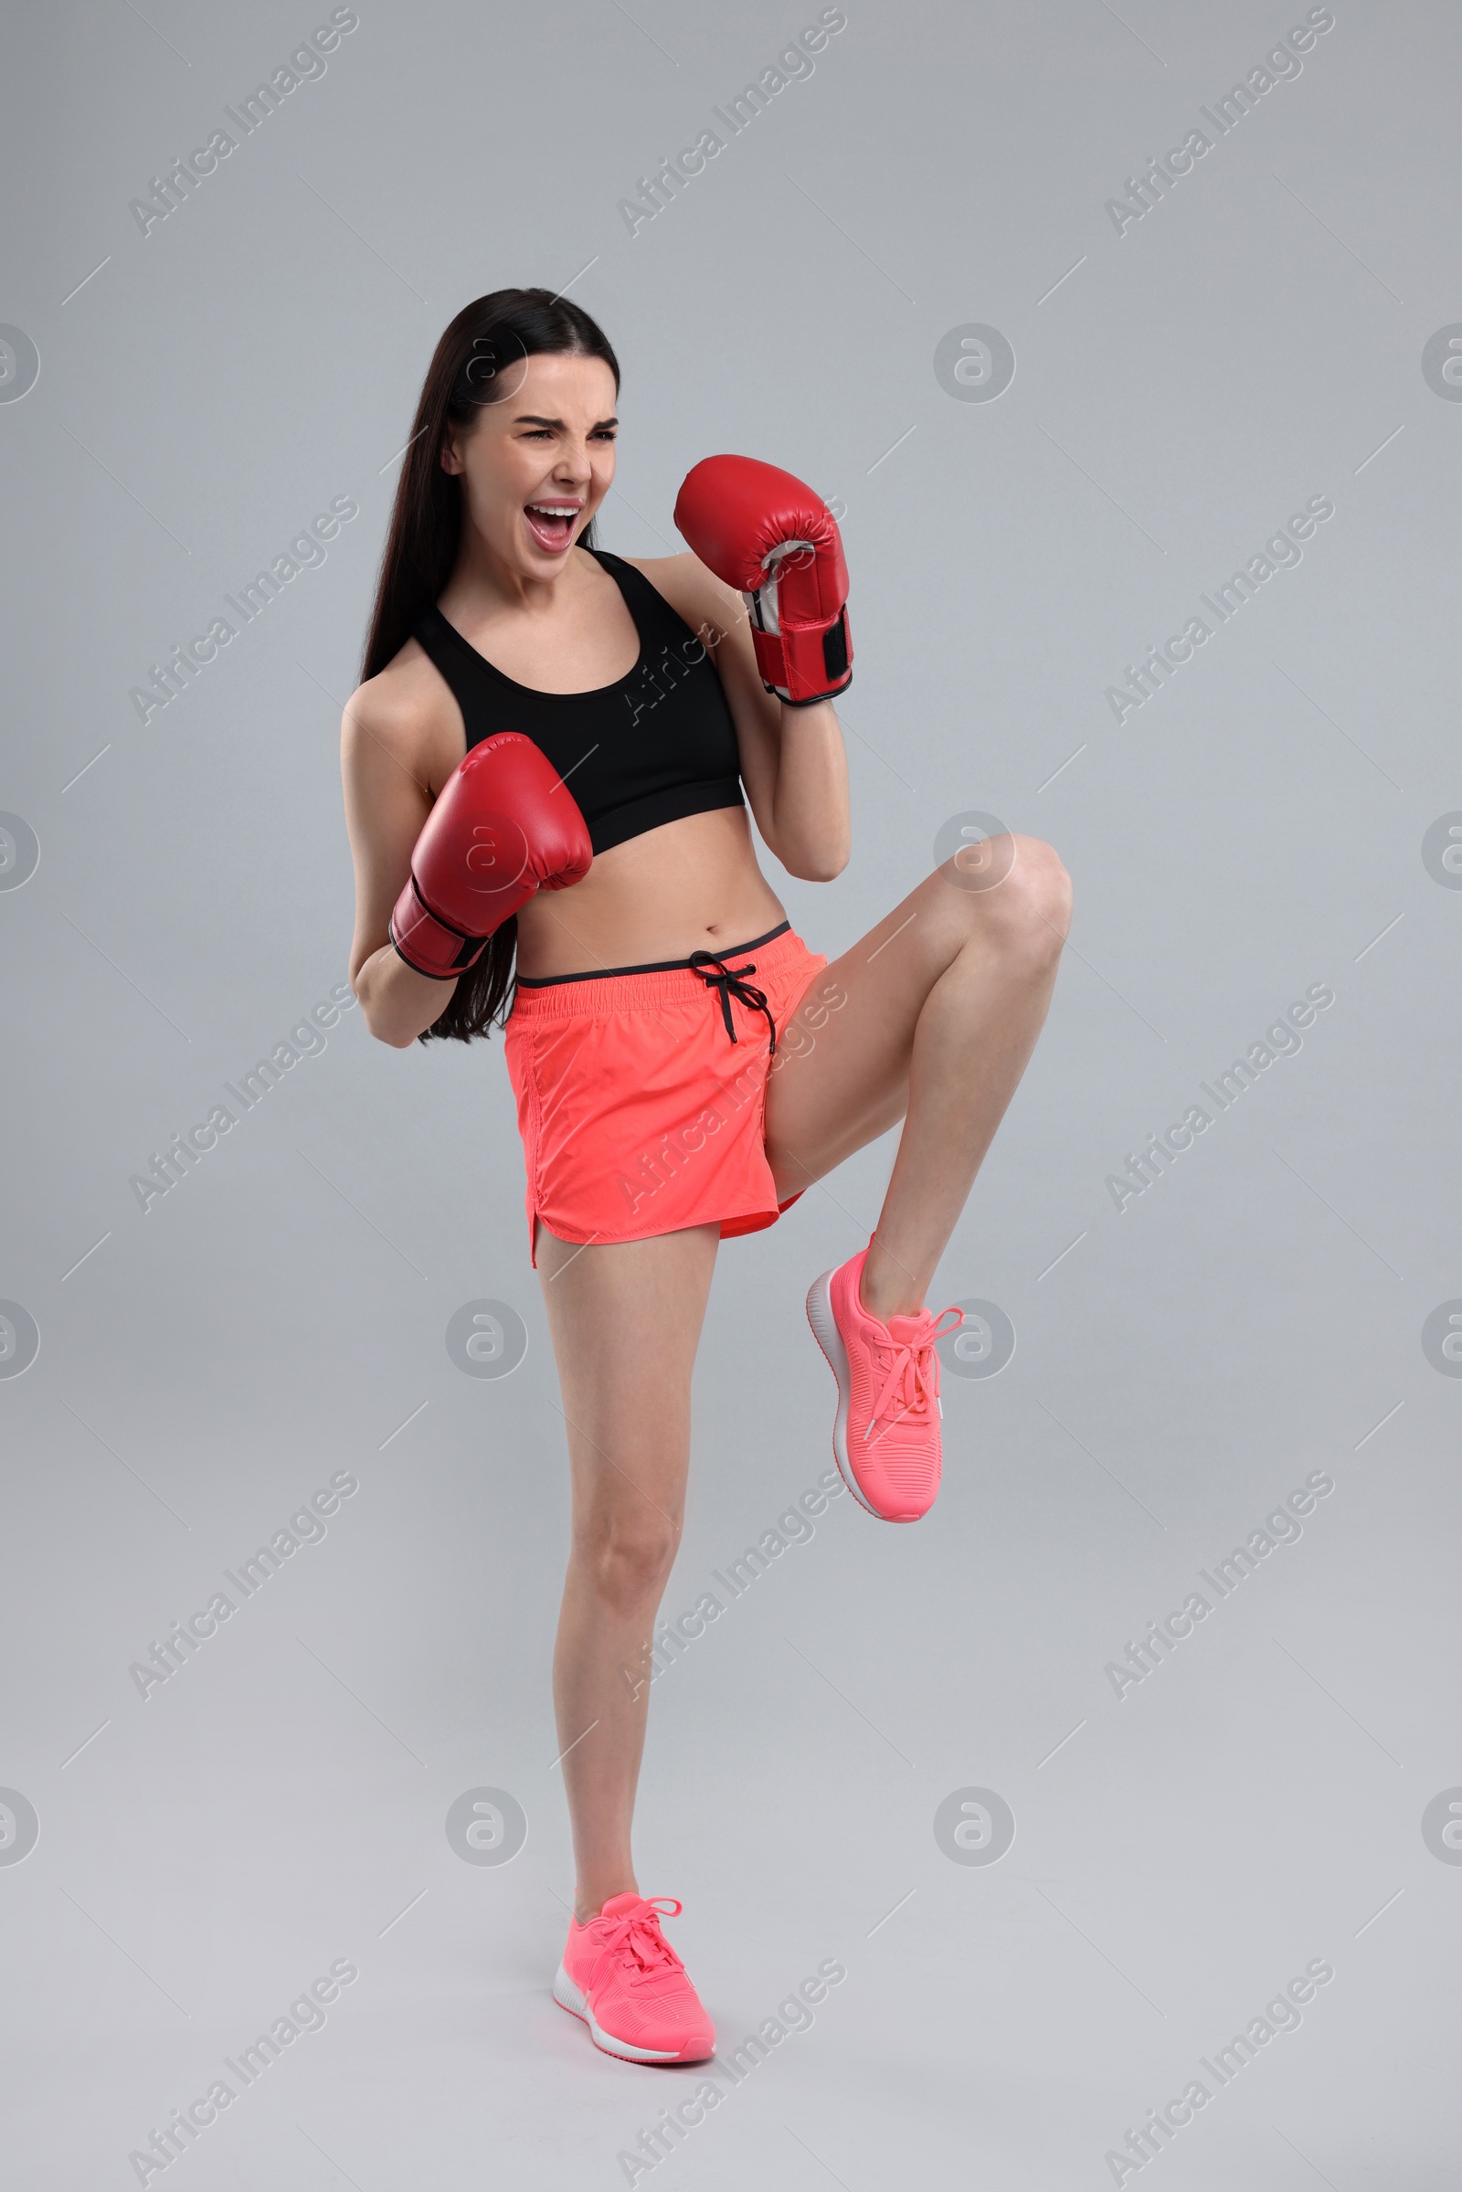
<path id="1" fill-rule="evenodd" d="M 704 2063 L 717 2028 L 660 1931 L 679 1918 L 675 1896 L 609 1896 L 598 1918 L 568 1922 L 552 1999 L 581 2017 L 596 2047 L 627 2063 Z"/>

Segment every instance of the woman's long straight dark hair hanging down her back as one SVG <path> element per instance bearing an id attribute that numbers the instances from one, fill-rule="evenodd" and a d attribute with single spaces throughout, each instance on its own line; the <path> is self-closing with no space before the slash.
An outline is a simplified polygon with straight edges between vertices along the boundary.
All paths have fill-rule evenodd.
<path id="1" fill-rule="evenodd" d="M 484 403 L 498 399 L 498 377 L 504 366 L 546 351 L 603 357 L 618 390 L 620 366 L 605 331 L 587 311 L 550 289 L 493 289 L 491 296 L 465 305 L 436 344 L 397 482 L 359 671 L 362 684 L 406 647 L 416 616 L 445 590 L 456 566 L 462 482 L 441 467 L 447 430 L 469 425 Z M 579 535 L 579 546 L 594 546 L 592 522 Z M 517 921 L 504 921 L 489 936 L 476 967 L 458 978 L 452 1002 L 421 1041 L 452 1035 L 469 1043 L 473 1035 L 489 1035 L 493 1021 L 502 1026 L 513 1002 L 515 951 Z"/>

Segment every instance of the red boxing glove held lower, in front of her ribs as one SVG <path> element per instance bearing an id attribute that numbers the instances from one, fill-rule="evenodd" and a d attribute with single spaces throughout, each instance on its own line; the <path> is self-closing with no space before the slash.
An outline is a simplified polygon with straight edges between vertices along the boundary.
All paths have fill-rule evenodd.
<path id="1" fill-rule="evenodd" d="M 458 761 L 421 824 L 390 940 L 416 973 L 452 982 L 539 890 L 568 890 L 594 848 L 548 754 L 500 730 Z"/>

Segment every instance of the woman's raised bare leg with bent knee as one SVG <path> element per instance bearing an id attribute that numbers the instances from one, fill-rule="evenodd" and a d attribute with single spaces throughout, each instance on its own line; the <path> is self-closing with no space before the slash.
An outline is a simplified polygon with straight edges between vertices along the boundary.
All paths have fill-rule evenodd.
<path id="1" fill-rule="evenodd" d="M 883 1320 L 923 1306 L 1041 1032 L 1070 925 L 1070 881 L 1048 844 L 997 837 L 991 859 L 1008 870 L 993 888 L 964 888 L 947 864 L 833 960 L 767 1081 L 780 1199 L 907 1114 L 859 1287 Z M 833 991 L 844 1004 L 818 1028 Z"/>

